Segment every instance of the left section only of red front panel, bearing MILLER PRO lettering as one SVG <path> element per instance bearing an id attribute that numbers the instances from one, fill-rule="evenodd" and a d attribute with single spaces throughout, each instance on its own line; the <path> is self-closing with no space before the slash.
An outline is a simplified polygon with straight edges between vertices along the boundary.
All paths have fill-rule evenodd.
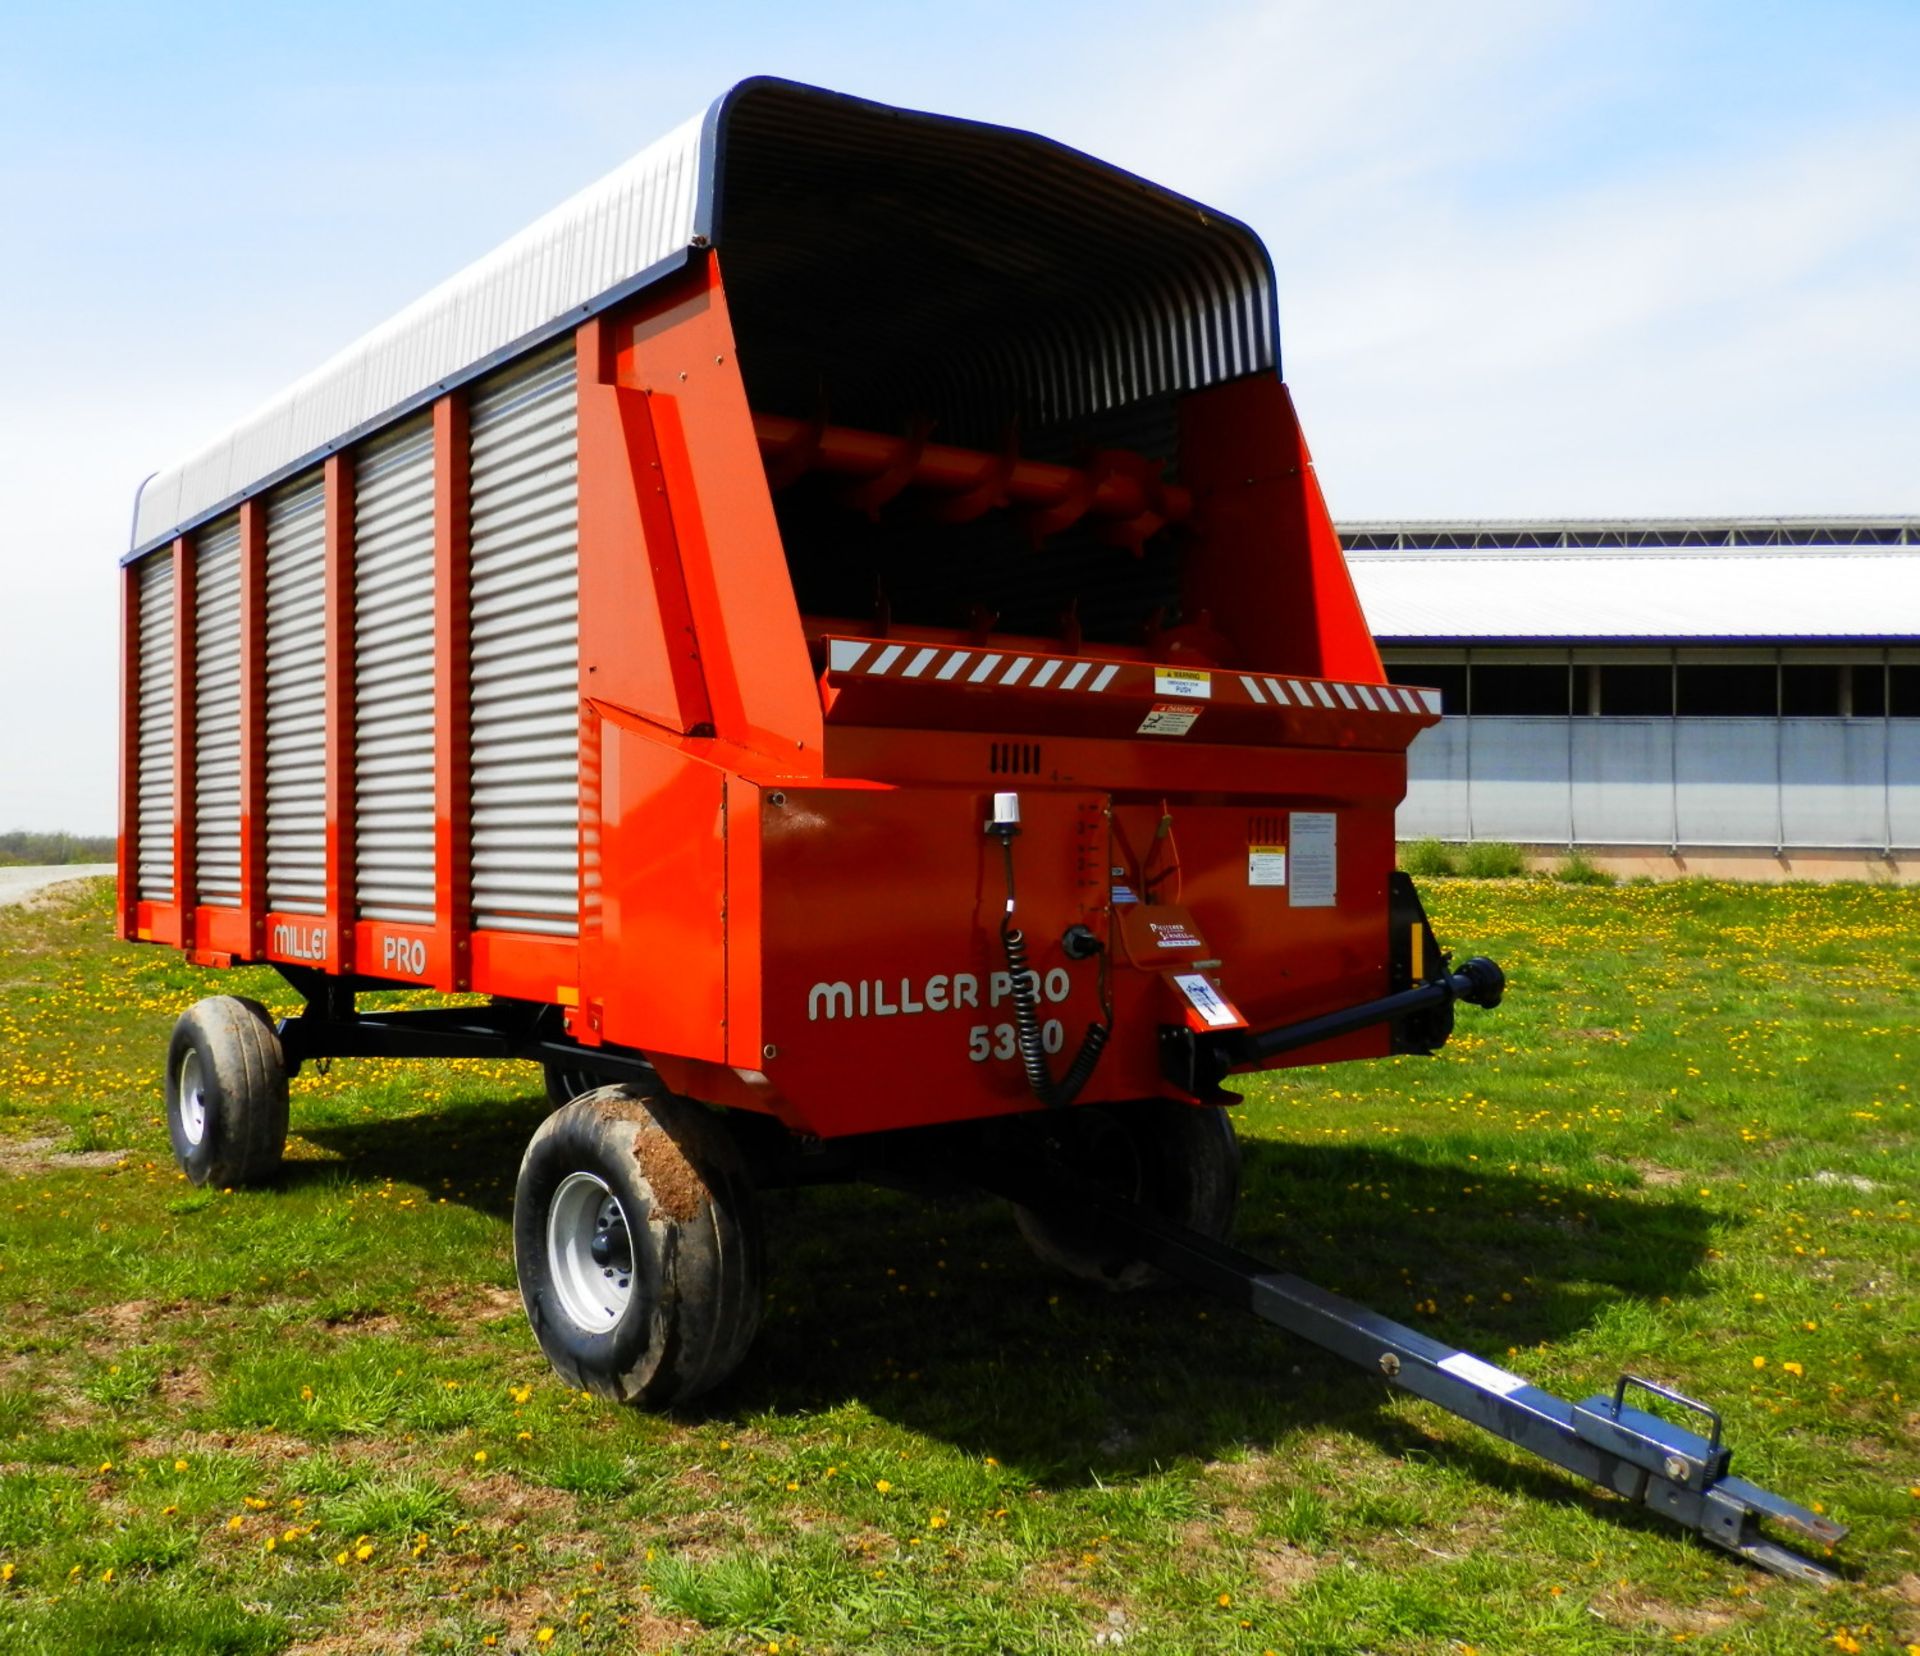
<path id="1" fill-rule="evenodd" d="M 778 794 L 778 798 L 776 798 Z M 1014 840 L 1016 921 L 1064 1067 L 1100 1017 L 1096 961 L 1069 925 L 1104 931 L 1106 798 L 1033 793 Z M 762 793 L 764 1071 L 781 1117 L 822 1136 L 1033 1109 L 1014 1050 L 991 793 L 787 787 Z M 1089 1096 L 1150 1092 L 1110 1053 Z"/>

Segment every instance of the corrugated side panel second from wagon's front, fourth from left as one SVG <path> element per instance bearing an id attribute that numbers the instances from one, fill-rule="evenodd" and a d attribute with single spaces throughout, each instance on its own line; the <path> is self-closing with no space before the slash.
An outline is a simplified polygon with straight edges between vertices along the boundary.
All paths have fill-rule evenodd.
<path id="1" fill-rule="evenodd" d="M 434 428 L 411 420 L 353 466 L 355 900 L 434 919 Z"/>

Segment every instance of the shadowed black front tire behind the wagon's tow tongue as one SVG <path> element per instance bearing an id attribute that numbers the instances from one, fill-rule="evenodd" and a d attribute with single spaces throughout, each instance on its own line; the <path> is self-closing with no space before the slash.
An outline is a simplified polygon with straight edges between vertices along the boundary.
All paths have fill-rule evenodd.
<path id="1" fill-rule="evenodd" d="M 1083 1176 L 1215 1242 L 1233 1234 L 1240 1205 L 1240 1142 L 1227 1111 L 1142 1098 L 1081 1105 L 1048 1119 L 1046 1128 L 1052 1153 Z M 1018 1205 L 1014 1218 L 1027 1245 L 1069 1276 L 1112 1289 L 1164 1280 L 1098 1224 Z"/>

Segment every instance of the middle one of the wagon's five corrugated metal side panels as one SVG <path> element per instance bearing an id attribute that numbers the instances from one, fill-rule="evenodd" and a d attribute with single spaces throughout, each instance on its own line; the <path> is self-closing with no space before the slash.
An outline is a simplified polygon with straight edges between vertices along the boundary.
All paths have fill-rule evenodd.
<path id="1" fill-rule="evenodd" d="M 267 906 L 326 906 L 326 495 L 267 499 Z"/>

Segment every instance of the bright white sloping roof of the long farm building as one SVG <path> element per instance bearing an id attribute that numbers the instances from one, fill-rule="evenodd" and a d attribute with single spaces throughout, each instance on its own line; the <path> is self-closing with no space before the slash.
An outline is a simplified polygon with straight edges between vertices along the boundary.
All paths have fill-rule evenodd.
<path id="1" fill-rule="evenodd" d="M 1380 643 L 1920 641 L 1920 551 L 1346 555 Z"/>

